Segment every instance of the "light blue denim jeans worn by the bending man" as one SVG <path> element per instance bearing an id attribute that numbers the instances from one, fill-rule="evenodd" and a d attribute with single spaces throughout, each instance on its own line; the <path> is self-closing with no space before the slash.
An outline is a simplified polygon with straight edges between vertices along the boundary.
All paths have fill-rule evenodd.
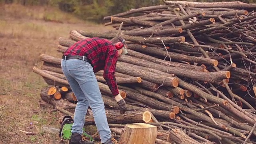
<path id="1" fill-rule="evenodd" d="M 101 143 L 106 142 L 111 138 L 111 132 L 100 88 L 91 64 L 79 59 L 62 59 L 61 67 L 78 101 L 71 132 L 83 133 L 82 128 L 88 106 L 90 105 L 97 130 L 100 134 Z"/>

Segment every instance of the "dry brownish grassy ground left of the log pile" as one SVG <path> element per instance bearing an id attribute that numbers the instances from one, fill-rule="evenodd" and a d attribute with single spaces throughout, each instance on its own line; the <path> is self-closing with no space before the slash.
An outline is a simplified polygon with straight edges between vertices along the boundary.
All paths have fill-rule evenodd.
<path id="1" fill-rule="evenodd" d="M 40 107 L 40 90 L 47 84 L 32 68 L 41 64 L 42 53 L 61 56 L 57 39 L 68 37 L 70 30 L 100 32 L 110 27 L 83 22 L 54 8 L 14 4 L 0 9 L 0 144 L 59 144 L 58 135 L 42 127 L 59 128 L 62 114 Z"/>

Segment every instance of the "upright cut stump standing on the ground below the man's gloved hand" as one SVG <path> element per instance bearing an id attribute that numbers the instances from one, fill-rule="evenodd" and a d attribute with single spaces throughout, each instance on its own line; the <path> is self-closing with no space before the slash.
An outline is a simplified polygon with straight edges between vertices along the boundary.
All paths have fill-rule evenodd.
<path id="1" fill-rule="evenodd" d="M 126 124 L 119 144 L 155 144 L 157 126 L 145 123 Z"/>

